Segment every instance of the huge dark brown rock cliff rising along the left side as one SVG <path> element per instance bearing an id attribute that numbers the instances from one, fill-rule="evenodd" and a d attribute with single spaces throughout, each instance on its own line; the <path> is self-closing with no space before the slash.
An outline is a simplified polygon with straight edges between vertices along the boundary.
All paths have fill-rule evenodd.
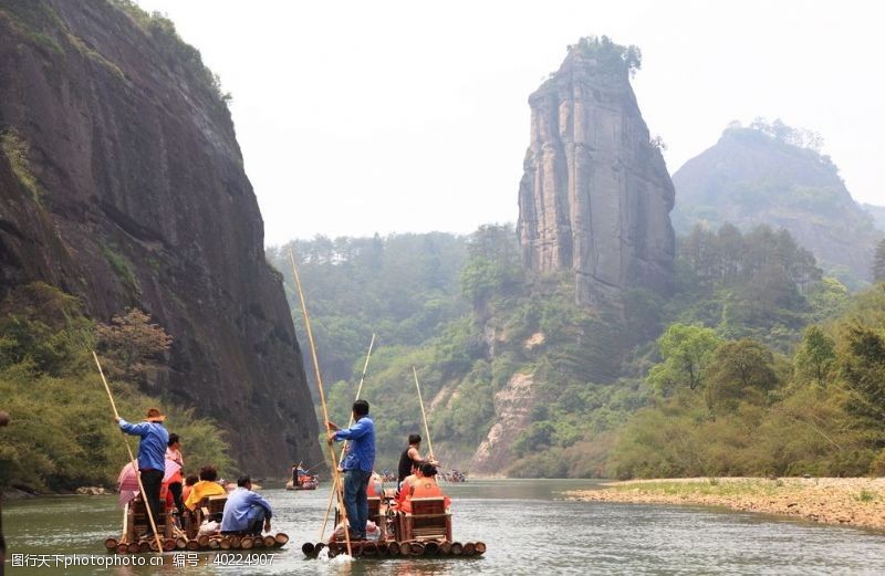
<path id="1" fill-rule="evenodd" d="M 148 392 L 215 417 L 253 474 L 321 460 L 281 279 L 199 53 L 125 3 L 6 0 L 0 71 L 0 292 L 43 280 L 100 321 L 146 310 L 175 338 Z"/>

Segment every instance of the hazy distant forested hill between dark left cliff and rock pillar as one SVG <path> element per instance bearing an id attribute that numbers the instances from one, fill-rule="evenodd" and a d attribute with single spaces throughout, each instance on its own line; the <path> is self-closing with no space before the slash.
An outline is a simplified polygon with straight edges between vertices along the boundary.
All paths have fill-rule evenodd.
<path id="1" fill-rule="evenodd" d="M 268 261 L 285 276 L 299 333 L 304 322 L 290 249 L 300 262 L 308 312 L 315 318 L 320 366 L 330 383 L 351 378 L 355 364 L 362 369 L 357 360 L 373 333 L 384 346 L 414 346 L 467 311 L 460 297 L 466 237 L 441 232 L 383 239 L 316 237 L 267 249 Z M 313 378 L 312 370 L 308 375 Z"/>

